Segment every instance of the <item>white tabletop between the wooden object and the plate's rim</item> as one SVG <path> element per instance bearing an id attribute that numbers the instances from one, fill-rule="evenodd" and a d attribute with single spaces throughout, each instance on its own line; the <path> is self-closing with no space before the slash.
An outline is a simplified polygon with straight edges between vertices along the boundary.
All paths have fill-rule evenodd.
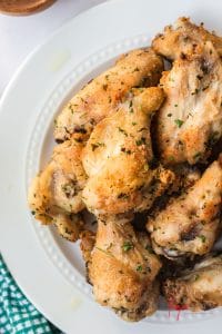
<path id="1" fill-rule="evenodd" d="M 0 14 L 0 95 L 29 52 L 69 19 L 101 2 L 104 0 L 57 0 L 32 16 Z"/>

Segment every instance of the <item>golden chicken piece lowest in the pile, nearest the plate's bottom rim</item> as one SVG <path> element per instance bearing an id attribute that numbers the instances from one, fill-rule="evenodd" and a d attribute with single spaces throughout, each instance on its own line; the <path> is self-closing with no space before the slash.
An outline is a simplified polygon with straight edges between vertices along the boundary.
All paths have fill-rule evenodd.
<path id="1" fill-rule="evenodd" d="M 95 245 L 88 262 L 93 294 L 125 321 L 155 312 L 161 263 L 147 234 L 135 234 L 125 218 L 99 220 Z"/>

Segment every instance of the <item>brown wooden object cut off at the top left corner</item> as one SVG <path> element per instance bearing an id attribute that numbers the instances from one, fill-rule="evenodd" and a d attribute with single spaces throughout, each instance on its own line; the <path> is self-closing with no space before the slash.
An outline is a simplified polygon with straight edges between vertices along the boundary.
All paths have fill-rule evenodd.
<path id="1" fill-rule="evenodd" d="M 0 12 L 24 16 L 43 10 L 56 0 L 0 0 Z"/>

